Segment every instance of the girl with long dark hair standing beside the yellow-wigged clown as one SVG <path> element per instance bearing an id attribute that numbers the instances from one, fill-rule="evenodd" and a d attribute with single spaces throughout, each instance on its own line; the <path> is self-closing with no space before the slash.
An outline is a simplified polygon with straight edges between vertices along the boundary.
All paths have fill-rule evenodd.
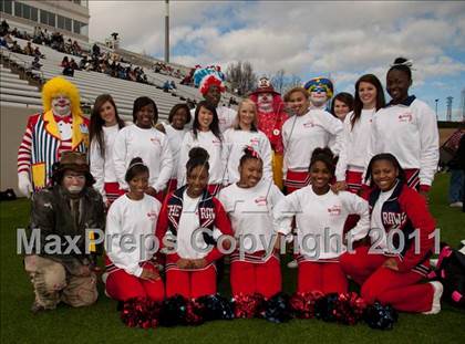
<path id="1" fill-rule="evenodd" d="M 91 174 L 95 178 L 94 188 L 102 195 L 106 207 L 122 194 L 113 164 L 113 144 L 124 126 L 113 97 L 110 94 L 99 95 L 91 114 L 89 154 Z"/>

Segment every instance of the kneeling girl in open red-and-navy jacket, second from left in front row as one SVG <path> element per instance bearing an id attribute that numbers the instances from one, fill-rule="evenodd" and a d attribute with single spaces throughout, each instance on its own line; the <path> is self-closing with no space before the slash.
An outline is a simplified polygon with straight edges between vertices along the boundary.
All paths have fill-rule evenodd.
<path id="1" fill-rule="evenodd" d="M 166 295 L 199 298 L 216 293 L 216 247 L 221 233 L 231 236 L 229 219 L 218 199 L 207 189 L 208 153 L 189 152 L 187 185 L 168 195 L 163 204 L 156 237 L 166 253 Z M 229 249 L 229 247 L 225 248 Z"/>

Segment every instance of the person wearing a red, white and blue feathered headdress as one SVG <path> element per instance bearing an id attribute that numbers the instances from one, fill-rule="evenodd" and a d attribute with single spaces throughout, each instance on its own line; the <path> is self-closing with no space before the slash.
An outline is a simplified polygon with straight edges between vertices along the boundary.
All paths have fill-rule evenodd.
<path id="1" fill-rule="evenodd" d="M 234 125 L 237 112 L 227 106 L 218 106 L 221 101 L 221 93 L 226 91 L 224 74 L 216 67 L 197 69 L 194 73 L 194 85 L 199 88 L 205 101 L 216 107 L 218 114 L 219 131 L 224 133 Z M 192 118 L 195 108 L 190 111 Z"/>

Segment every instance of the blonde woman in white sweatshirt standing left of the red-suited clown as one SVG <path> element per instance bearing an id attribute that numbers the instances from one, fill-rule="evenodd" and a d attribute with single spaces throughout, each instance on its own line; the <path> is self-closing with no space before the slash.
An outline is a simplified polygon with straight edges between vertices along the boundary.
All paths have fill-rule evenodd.
<path id="1" fill-rule="evenodd" d="M 257 128 L 257 106 L 250 100 L 239 104 L 236 124 L 224 134 L 227 147 L 228 184 L 239 180 L 239 160 L 244 148 L 250 146 L 257 152 L 264 163 L 264 178 L 272 179 L 271 145 L 268 137 Z"/>

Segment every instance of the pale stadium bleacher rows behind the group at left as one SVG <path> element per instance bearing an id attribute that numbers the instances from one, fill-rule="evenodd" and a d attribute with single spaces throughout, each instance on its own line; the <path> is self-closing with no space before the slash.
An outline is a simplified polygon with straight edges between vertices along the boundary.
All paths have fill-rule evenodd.
<path id="1" fill-rule="evenodd" d="M 27 41 L 16 39 L 21 46 L 25 46 Z M 32 44 L 34 48 L 37 44 Z M 39 45 L 42 54 L 45 59 L 41 59 L 42 64 L 41 71 L 34 71 L 34 74 L 39 74 L 43 81 L 50 80 L 56 75 L 62 75 L 63 67 L 60 66 L 61 61 L 64 56 L 74 59 L 79 64 L 81 58 L 58 52 L 46 45 Z M 33 58 L 24 54 L 13 53 L 2 49 L 2 54 L 10 61 L 22 65 L 28 69 Z M 122 63 L 123 66 L 127 66 L 127 63 Z M 133 65 L 135 67 L 136 65 Z M 152 97 L 158 107 L 159 119 L 167 119 L 169 110 L 177 103 L 184 103 L 187 98 L 195 100 L 196 102 L 202 100 L 202 95 L 198 90 L 187 85 L 180 85 L 174 76 L 155 73 L 143 66 L 147 75 L 147 79 L 154 85 L 137 83 L 133 81 L 122 80 L 112 77 L 104 73 L 97 73 L 93 71 L 74 71 L 74 76 L 63 76 L 72 81 L 80 90 L 81 101 L 83 104 L 91 106 L 95 97 L 102 93 L 110 93 L 116 103 L 120 114 L 125 119 L 131 119 L 133 102 L 136 97 L 146 95 Z M 18 75 L 6 73 L 4 79 L 2 77 L 1 83 L 1 98 L 0 102 L 7 104 L 18 105 L 40 105 L 41 95 L 40 90 L 35 86 L 30 86 L 27 81 L 19 80 Z M 2 74 L 3 75 L 3 74 Z M 164 92 L 162 85 L 166 80 L 176 80 L 177 90 L 172 92 Z M 229 95 L 230 96 L 230 95 Z M 227 104 L 229 96 L 223 98 L 223 103 Z"/>

